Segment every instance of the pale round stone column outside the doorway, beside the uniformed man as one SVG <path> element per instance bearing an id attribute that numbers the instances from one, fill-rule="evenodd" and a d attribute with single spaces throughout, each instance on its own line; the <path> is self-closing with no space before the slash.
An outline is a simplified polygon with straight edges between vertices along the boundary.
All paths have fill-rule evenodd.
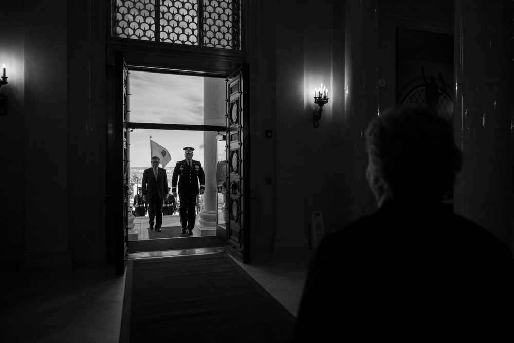
<path id="1" fill-rule="evenodd" d="M 225 88 L 225 79 L 204 78 L 205 125 L 225 125 Z M 204 132 L 204 208 L 200 212 L 200 219 L 195 227 L 195 231 L 199 236 L 216 234 L 216 135 L 217 132 Z"/>

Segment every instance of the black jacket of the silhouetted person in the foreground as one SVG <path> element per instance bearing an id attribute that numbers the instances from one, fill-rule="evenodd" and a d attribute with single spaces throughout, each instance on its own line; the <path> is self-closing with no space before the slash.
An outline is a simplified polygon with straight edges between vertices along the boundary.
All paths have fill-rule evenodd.
<path id="1" fill-rule="evenodd" d="M 293 341 L 495 341 L 512 337 L 513 290 L 493 234 L 438 202 L 389 200 L 321 240 Z"/>

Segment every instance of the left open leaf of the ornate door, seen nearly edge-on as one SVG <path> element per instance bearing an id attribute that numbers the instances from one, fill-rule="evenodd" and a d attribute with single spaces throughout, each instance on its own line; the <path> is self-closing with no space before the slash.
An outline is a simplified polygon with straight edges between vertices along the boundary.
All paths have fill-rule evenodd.
<path id="1" fill-rule="evenodd" d="M 123 274 L 128 262 L 128 69 L 123 53 L 115 53 L 114 109 L 109 116 L 107 156 L 107 225 L 115 241 L 116 273 Z M 122 156 L 122 158 L 120 158 Z"/>

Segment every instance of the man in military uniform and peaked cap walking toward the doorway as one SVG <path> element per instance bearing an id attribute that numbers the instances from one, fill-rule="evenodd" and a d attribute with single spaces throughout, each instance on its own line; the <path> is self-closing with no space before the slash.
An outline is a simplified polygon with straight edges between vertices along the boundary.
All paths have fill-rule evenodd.
<path id="1" fill-rule="evenodd" d="M 182 231 L 180 233 L 193 234 L 194 223 L 196 220 L 195 204 L 196 196 L 204 194 L 205 191 L 205 174 L 204 169 L 198 161 L 193 160 L 192 147 L 184 148 L 185 160 L 178 161 L 171 180 L 171 189 L 173 196 L 177 196 L 177 180 L 178 180 L 178 196 L 180 196 L 180 223 Z M 180 179 L 179 179 L 180 175 Z M 198 188 L 198 180 L 200 182 Z"/>

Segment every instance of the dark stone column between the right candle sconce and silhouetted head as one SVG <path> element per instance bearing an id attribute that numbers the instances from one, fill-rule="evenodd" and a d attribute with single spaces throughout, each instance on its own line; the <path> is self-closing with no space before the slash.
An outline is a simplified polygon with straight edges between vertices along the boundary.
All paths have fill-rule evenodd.
<path id="1" fill-rule="evenodd" d="M 368 155 L 364 130 L 378 114 L 379 32 L 378 0 L 346 1 L 345 23 L 345 89 L 342 145 L 344 163 L 339 171 L 341 220 L 357 220 L 376 210 L 376 201 L 364 177 Z"/>

